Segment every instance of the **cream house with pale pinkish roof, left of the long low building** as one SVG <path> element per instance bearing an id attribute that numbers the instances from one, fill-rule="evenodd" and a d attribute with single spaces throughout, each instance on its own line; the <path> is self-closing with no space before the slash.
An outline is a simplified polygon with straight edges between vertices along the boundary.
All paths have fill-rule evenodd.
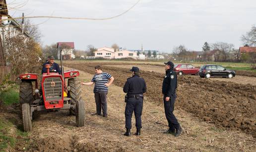
<path id="1" fill-rule="evenodd" d="M 97 51 L 94 51 L 95 58 L 103 57 L 106 59 L 113 59 L 115 58 L 115 51 L 113 48 L 103 47 L 99 48 Z"/>

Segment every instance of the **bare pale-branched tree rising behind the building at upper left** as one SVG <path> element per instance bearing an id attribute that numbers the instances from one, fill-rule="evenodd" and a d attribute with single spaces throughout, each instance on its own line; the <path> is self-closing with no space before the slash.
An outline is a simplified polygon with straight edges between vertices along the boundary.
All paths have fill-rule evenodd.
<path id="1" fill-rule="evenodd" d="M 17 19 L 17 22 L 22 25 L 22 19 Z M 41 41 L 42 34 L 38 25 L 33 25 L 33 23 L 28 18 L 24 19 L 24 31 L 27 31 L 28 34 L 35 40 L 35 42 L 39 43 Z"/>

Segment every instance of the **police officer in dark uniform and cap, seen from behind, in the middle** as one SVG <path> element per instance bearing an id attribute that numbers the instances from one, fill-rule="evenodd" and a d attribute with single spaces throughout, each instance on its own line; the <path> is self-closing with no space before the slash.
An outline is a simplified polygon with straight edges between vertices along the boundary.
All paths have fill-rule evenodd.
<path id="1" fill-rule="evenodd" d="M 143 93 L 146 92 L 146 83 L 143 78 L 139 77 L 139 68 L 132 67 L 130 69 L 132 77 L 127 79 L 127 82 L 124 86 L 124 92 L 127 93 L 126 98 L 126 133 L 125 136 L 130 136 L 131 129 L 131 116 L 134 111 L 136 128 L 137 131 L 134 135 L 140 135 L 141 128 L 141 114 L 143 107 Z"/>

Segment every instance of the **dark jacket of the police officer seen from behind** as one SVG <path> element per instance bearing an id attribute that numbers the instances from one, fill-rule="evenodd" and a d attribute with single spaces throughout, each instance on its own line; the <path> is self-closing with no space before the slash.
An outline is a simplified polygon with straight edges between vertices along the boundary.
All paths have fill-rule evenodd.
<path id="1" fill-rule="evenodd" d="M 127 79 L 123 90 L 127 95 L 143 95 L 147 91 L 147 86 L 143 78 L 133 75 Z"/>

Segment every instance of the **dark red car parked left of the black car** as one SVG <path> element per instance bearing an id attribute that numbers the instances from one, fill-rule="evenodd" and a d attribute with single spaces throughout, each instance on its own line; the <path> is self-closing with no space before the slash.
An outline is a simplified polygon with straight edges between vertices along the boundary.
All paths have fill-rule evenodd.
<path id="1" fill-rule="evenodd" d="M 191 64 L 175 64 L 173 69 L 178 75 L 197 74 L 199 69 Z"/>

